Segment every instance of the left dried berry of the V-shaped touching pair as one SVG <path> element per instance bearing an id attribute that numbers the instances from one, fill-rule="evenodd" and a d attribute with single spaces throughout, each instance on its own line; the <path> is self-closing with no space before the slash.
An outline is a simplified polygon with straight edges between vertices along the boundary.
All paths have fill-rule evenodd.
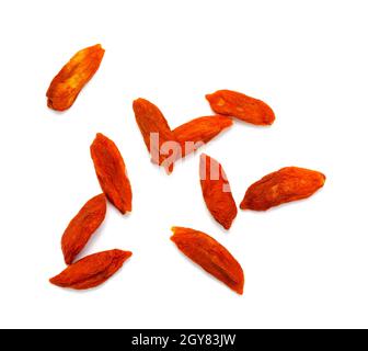
<path id="1" fill-rule="evenodd" d="M 152 162 L 162 165 L 171 173 L 179 145 L 168 121 L 153 103 L 145 99 L 135 100 L 133 110 Z"/>

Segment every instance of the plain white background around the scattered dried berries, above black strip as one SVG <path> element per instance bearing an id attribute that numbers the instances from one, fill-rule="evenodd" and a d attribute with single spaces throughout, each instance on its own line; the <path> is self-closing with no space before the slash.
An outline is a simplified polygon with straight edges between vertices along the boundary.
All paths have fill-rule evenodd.
<path id="1" fill-rule="evenodd" d="M 368 327 L 367 1 L 1 1 L 0 327 Z M 46 107 L 53 77 L 101 43 L 100 70 L 65 113 Z M 235 123 L 202 150 L 219 160 L 239 204 L 285 166 L 327 177 L 314 196 L 239 212 L 229 233 L 200 192 L 199 152 L 172 176 L 149 161 L 131 102 L 172 127 L 232 89 L 266 101 L 272 127 Z M 128 167 L 134 210 L 113 206 L 83 254 L 131 250 L 99 288 L 48 279 L 60 237 L 100 193 L 89 147 L 111 137 Z M 170 241 L 171 226 L 214 236 L 239 260 L 238 296 Z M 83 256 L 82 254 L 82 256 Z"/>

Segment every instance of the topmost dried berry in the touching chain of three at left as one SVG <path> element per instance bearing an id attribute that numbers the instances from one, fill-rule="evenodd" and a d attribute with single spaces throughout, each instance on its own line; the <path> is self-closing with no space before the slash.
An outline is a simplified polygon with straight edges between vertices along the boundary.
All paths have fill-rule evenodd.
<path id="1" fill-rule="evenodd" d="M 131 211 L 131 186 L 124 159 L 113 140 L 99 133 L 91 156 L 100 185 L 108 201 L 123 214 Z"/>

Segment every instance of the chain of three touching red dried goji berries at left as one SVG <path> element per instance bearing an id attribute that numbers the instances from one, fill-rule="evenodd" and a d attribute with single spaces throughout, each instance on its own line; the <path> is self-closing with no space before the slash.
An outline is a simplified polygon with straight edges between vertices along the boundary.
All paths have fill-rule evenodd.
<path id="1" fill-rule="evenodd" d="M 110 250 L 90 254 L 77 262 L 76 257 L 105 219 L 106 199 L 123 214 L 131 211 L 131 188 L 123 157 L 114 141 L 97 134 L 91 145 L 94 169 L 103 194 L 89 200 L 71 219 L 61 238 L 61 249 L 67 264 L 57 276 L 55 285 L 89 288 L 105 282 L 131 256 L 130 251 Z"/>

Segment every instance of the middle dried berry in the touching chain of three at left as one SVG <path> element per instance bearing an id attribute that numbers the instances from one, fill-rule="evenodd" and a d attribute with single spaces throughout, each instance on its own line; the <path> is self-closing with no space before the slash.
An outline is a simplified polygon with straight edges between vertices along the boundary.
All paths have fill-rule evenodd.
<path id="1" fill-rule="evenodd" d="M 61 249 L 67 264 L 72 263 L 77 254 L 84 248 L 93 233 L 100 227 L 106 215 L 106 197 L 104 194 L 89 200 L 73 217 L 61 238 Z"/>

